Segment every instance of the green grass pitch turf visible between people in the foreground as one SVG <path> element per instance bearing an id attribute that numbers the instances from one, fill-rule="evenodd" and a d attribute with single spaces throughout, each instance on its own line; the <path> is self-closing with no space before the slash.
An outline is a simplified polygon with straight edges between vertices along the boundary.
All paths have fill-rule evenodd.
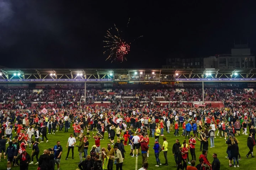
<path id="1" fill-rule="evenodd" d="M 72 126 L 71 126 L 72 127 Z M 95 131 L 94 131 L 95 132 Z M 149 131 L 148 131 L 149 132 Z M 181 129 L 180 129 L 181 132 Z M 14 132 L 13 132 L 14 133 Z M 69 159 L 65 160 L 66 157 L 66 153 L 67 153 L 67 148 L 66 148 L 66 143 L 68 141 L 68 137 L 69 134 L 72 133 L 72 130 L 69 130 L 68 133 L 64 133 L 64 131 L 58 131 L 57 133 L 55 133 L 55 135 L 48 135 L 48 143 L 45 143 L 46 140 L 44 141 L 44 143 L 40 143 L 39 145 L 39 149 L 40 149 L 40 154 L 43 154 L 43 150 L 44 149 L 48 149 L 50 147 L 53 147 L 54 145 L 56 145 L 57 141 L 60 141 L 60 145 L 62 145 L 63 147 L 63 153 L 62 153 L 62 159 L 60 162 L 60 170 L 75 170 L 78 168 L 78 162 L 79 162 L 79 154 L 78 154 L 78 147 L 74 148 L 74 160 L 72 160 L 72 153 L 70 151 L 69 153 Z M 92 132 L 90 132 L 91 136 L 92 136 Z M 169 169 L 176 169 L 176 164 L 174 161 L 174 156 L 172 155 L 172 145 L 175 143 L 175 139 L 178 138 L 180 140 L 180 142 L 182 143 L 184 140 L 184 137 L 178 136 L 175 137 L 173 135 L 173 132 L 171 132 L 170 134 L 167 134 L 167 132 L 164 132 L 165 137 L 167 138 L 167 142 L 168 142 L 168 152 L 167 152 L 167 156 L 168 156 L 168 164 L 169 166 L 159 166 L 159 167 L 155 167 L 156 165 L 156 160 L 155 160 L 155 155 L 154 155 L 154 141 L 155 139 L 150 137 L 150 148 L 149 148 L 149 158 L 148 158 L 148 163 L 149 163 L 149 168 L 148 170 L 156 170 L 156 169 L 161 169 L 161 170 L 169 170 Z M 248 135 L 241 135 L 241 136 L 237 136 L 237 139 L 239 140 L 239 152 L 241 155 L 242 160 L 239 160 L 239 168 L 236 169 L 246 169 L 246 170 L 255 170 L 255 161 L 256 158 L 251 158 L 251 156 L 249 156 L 248 159 L 246 159 L 245 155 L 248 153 L 249 149 L 247 147 L 247 137 Z M 101 147 L 107 147 L 107 143 L 109 142 L 109 140 L 107 140 L 107 133 L 105 133 L 104 135 L 105 140 L 101 140 Z M 40 140 L 39 140 L 40 141 Z M 115 141 L 116 141 L 116 137 L 115 137 Z M 162 145 L 162 136 L 160 136 L 159 138 L 159 142 Z M 188 140 L 187 140 L 188 142 Z M 79 143 L 79 141 L 78 141 Z M 92 145 L 95 144 L 94 139 L 89 139 L 89 148 L 91 148 Z M 196 165 L 199 163 L 198 162 L 198 157 L 201 154 L 201 152 L 199 151 L 200 149 L 200 142 L 197 140 L 197 145 L 196 145 L 196 158 L 197 158 L 197 162 Z M 7 147 L 7 145 L 6 145 Z M 216 136 L 215 138 L 215 148 L 210 148 L 210 141 L 209 141 L 209 153 L 208 153 L 208 160 L 212 163 L 212 153 L 217 153 L 218 154 L 218 158 L 220 160 L 220 169 L 221 170 L 227 170 L 227 169 L 234 169 L 234 167 L 229 167 L 229 162 L 228 159 L 225 158 L 225 156 L 227 156 L 226 154 L 226 149 L 227 149 L 227 145 L 225 143 L 224 138 L 219 138 L 219 136 Z M 125 159 L 124 159 L 124 163 L 123 163 L 123 170 L 135 170 L 135 162 L 136 162 L 136 157 L 132 158 L 131 156 L 129 156 L 130 153 L 130 146 L 126 146 L 125 147 L 126 150 L 126 154 L 125 154 Z M 255 150 L 255 148 L 254 148 Z M 32 149 L 28 149 L 27 148 L 27 152 L 29 154 L 31 154 Z M 191 159 L 191 155 L 189 153 L 189 158 Z M 84 160 L 84 159 L 83 159 Z M 142 156 L 141 154 L 138 157 L 138 169 L 141 168 L 142 165 Z M 164 154 L 163 152 L 160 153 L 160 161 L 161 164 L 165 163 L 165 159 L 164 159 Z M 5 170 L 6 169 L 6 159 L 1 158 L 1 162 L 0 162 L 0 170 Z M 36 158 L 34 157 L 34 163 L 36 163 Z M 232 162 L 233 164 L 233 162 Z M 29 170 L 36 170 L 37 169 L 37 165 L 29 165 Z M 20 167 L 12 167 L 12 170 L 18 170 L 20 169 Z M 113 165 L 113 169 L 116 170 L 116 166 Z M 57 170 L 57 165 L 55 165 L 55 170 Z"/>

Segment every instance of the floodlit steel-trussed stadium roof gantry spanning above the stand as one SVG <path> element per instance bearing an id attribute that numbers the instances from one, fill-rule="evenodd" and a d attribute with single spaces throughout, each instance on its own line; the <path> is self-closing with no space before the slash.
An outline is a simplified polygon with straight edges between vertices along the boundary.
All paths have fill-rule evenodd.
<path id="1" fill-rule="evenodd" d="M 256 81 L 256 69 L 15 69 L 0 68 L 0 82 Z"/>

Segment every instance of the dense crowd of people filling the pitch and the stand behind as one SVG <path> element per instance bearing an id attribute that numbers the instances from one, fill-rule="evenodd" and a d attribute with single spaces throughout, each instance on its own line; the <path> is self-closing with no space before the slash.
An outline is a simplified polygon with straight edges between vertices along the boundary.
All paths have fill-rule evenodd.
<path id="1" fill-rule="evenodd" d="M 230 94 L 234 96 L 244 94 L 244 92 L 246 95 L 254 94 L 254 91 L 236 90 L 238 89 L 230 91 Z M 241 130 L 241 135 L 248 135 L 249 152 L 246 154 L 246 158 L 249 159 L 249 155 L 254 158 L 253 148 L 255 147 L 256 133 L 254 105 L 248 105 L 245 108 L 229 103 L 224 108 L 195 108 L 192 103 L 181 101 L 160 103 L 156 98 L 154 99 L 156 95 L 165 96 L 172 91 L 166 89 L 151 92 L 113 90 L 111 91 L 113 95 L 111 103 L 92 107 L 88 103 L 78 105 L 76 101 L 82 97 L 82 90 L 79 88 L 64 90 L 58 87 L 56 89 L 48 88 L 44 91 L 32 92 L 30 95 L 30 90 L 26 89 L 1 90 L 1 100 L 16 102 L 15 107 L 6 107 L 0 112 L 0 160 L 4 153 L 4 159 L 7 157 L 7 170 L 10 170 L 12 166 L 20 166 L 21 169 L 26 170 L 30 164 L 38 164 L 41 170 L 52 170 L 57 164 L 59 170 L 60 160 L 63 156 L 60 141 L 55 141 L 56 145 L 52 148 L 45 148 L 43 154 L 39 151 L 39 144 L 45 142 L 44 138 L 48 142 L 47 135 L 55 135 L 62 131 L 69 133 L 66 144 L 68 153 L 65 155 L 65 159 L 69 159 L 70 150 L 71 158 L 74 159 L 74 148 L 78 147 L 78 167 L 81 170 L 109 170 L 113 168 L 113 164 L 116 165 L 117 170 L 122 170 L 126 152 L 130 152 L 131 157 L 138 157 L 141 154 L 141 165 L 144 169 L 149 166 L 169 166 L 168 138 L 164 135 L 165 133 L 174 133 L 175 136 L 185 137 L 181 143 L 179 139 L 176 139 L 172 146 L 177 170 L 195 168 L 218 170 L 220 162 L 217 153 L 212 155 L 212 164 L 207 158 L 208 148 L 215 147 L 216 136 L 226 140 L 229 166 L 239 167 L 241 156 L 236 136 L 240 135 Z M 187 91 L 190 91 L 187 94 L 198 93 L 197 90 L 191 91 L 191 89 L 186 89 L 181 93 L 184 94 Z M 26 102 L 23 102 L 37 100 L 37 98 L 47 98 L 48 100 L 49 93 L 51 93 L 50 96 L 54 93 L 59 94 L 57 98 L 55 98 L 56 96 L 52 98 L 52 100 L 56 100 L 54 103 L 37 103 L 37 105 L 28 106 Z M 90 96 L 105 96 L 106 93 L 109 92 L 88 90 L 89 98 Z M 223 93 L 225 92 L 217 90 L 214 95 L 213 91 L 207 91 L 205 95 L 216 96 L 218 94 L 218 96 L 222 96 Z M 95 96 L 95 94 L 98 95 Z M 131 98 L 116 98 L 117 95 Z M 142 99 L 145 97 L 150 100 L 143 101 Z M 69 103 L 72 99 L 74 103 Z M 251 98 L 251 100 L 254 99 Z M 160 136 L 163 143 L 159 143 Z M 153 149 L 156 165 L 148 163 L 150 137 L 155 140 Z M 91 142 L 89 145 L 91 138 L 94 138 L 95 145 Z M 100 145 L 101 140 L 109 141 L 106 148 Z M 200 143 L 198 149 L 202 152 L 198 159 L 195 154 L 196 143 Z M 6 144 L 9 146 L 6 147 Z M 129 151 L 124 149 L 127 145 L 130 145 Z M 27 153 L 27 148 L 32 149 L 31 156 Z M 164 164 L 161 164 L 159 159 L 161 152 L 165 158 Z M 189 152 L 192 159 L 189 159 Z M 36 157 L 36 162 L 34 162 L 34 157 Z M 198 165 L 196 165 L 197 161 Z"/>

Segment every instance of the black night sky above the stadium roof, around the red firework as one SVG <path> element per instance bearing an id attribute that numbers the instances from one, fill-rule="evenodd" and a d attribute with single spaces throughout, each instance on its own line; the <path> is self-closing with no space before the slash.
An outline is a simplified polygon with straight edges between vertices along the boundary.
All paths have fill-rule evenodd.
<path id="1" fill-rule="evenodd" d="M 166 58 L 230 53 L 234 39 L 254 53 L 256 1 L 223 1 L 0 0 L 0 66 L 161 68 Z M 114 24 L 127 42 L 143 35 L 123 63 L 103 55 Z"/>

